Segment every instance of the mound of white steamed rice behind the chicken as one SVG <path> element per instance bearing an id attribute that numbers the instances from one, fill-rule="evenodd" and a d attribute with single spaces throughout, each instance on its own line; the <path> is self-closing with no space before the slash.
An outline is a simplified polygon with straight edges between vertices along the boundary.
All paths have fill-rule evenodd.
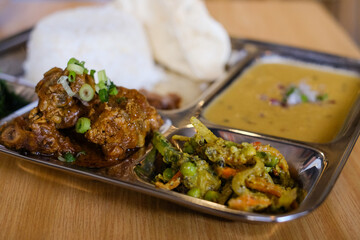
<path id="1" fill-rule="evenodd" d="M 32 31 L 24 63 L 35 84 L 50 68 L 71 57 L 86 62 L 127 88 L 151 89 L 163 76 L 155 66 L 145 31 L 133 16 L 118 9 L 82 7 L 52 14 Z"/>

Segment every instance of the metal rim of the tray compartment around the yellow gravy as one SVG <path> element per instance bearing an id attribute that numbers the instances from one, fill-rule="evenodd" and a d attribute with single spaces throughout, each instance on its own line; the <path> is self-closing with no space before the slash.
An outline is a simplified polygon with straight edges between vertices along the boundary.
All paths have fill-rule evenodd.
<path id="1" fill-rule="evenodd" d="M 271 46 L 271 45 L 270 45 Z M 286 47 L 281 48 L 279 46 L 273 46 L 272 48 L 268 46 L 269 49 L 265 50 L 262 49 L 262 45 L 257 46 L 257 52 L 254 54 L 252 58 L 245 59 L 242 63 L 242 65 L 236 69 L 236 71 L 233 71 L 231 75 L 228 76 L 226 80 L 222 82 L 222 84 L 219 84 L 216 88 L 211 89 L 211 91 L 208 92 L 208 94 L 204 97 L 203 103 L 198 108 L 198 112 L 200 115 L 206 119 L 209 123 L 212 122 L 211 119 L 207 119 L 205 116 L 205 112 L 208 109 L 209 106 L 211 106 L 215 101 L 218 101 L 218 97 L 222 94 L 224 94 L 227 90 L 229 90 L 230 87 L 233 86 L 233 84 L 238 84 L 237 81 L 240 81 L 239 79 L 244 72 L 246 72 L 248 69 L 251 69 L 253 66 L 256 66 L 258 63 L 260 64 L 267 64 L 267 63 L 276 63 L 280 65 L 287 65 L 290 64 L 290 66 L 296 66 L 299 64 L 300 67 L 304 68 L 313 68 L 313 67 L 319 67 L 318 69 L 320 71 L 324 72 L 337 72 L 337 73 L 351 73 L 355 74 L 357 77 L 360 77 L 360 62 L 356 60 L 341 58 L 337 56 L 331 56 L 327 54 L 321 54 L 321 53 L 315 53 L 312 52 L 311 54 L 307 51 L 294 51 L 293 49 L 288 49 Z M 279 50 L 280 49 L 280 50 Z M 270 59 L 270 61 L 269 61 Z M 326 61 L 325 61 L 326 59 Z M 246 61 L 247 60 L 247 61 Z M 309 65 L 311 64 L 311 65 Z M 345 73 L 346 72 L 346 73 Z M 248 79 L 247 79 L 248 80 Z M 246 90 L 244 90 L 246 91 Z M 326 91 L 325 91 L 326 92 Z M 241 92 L 239 92 L 241 94 Z M 259 92 L 259 95 L 261 93 Z M 259 96 L 257 96 L 259 97 Z M 266 97 L 266 96 L 265 96 Z M 265 101 L 265 100 L 264 100 Z M 269 101 L 269 100 L 267 100 Z M 329 101 L 330 102 L 330 101 Z M 249 103 L 251 104 L 251 103 Z M 330 104 L 330 103 L 327 103 Z M 336 102 L 334 104 L 337 104 Z M 339 131 L 336 134 L 335 137 L 328 138 L 330 140 L 296 140 L 292 137 L 280 137 L 280 135 L 275 135 L 278 138 L 285 138 L 289 140 L 293 140 L 295 142 L 313 142 L 313 143 L 328 143 L 333 142 L 336 140 L 339 140 L 343 138 L 344 135 L 347 134 L 347 131 L 349 130 L 350 126 L 357 124 L 356 119 L 359 117 L 359 105 L 360 105 L 360 97 L 357 95 L 356 100 L 351 105 L 349 111 L 345 116 L 347 116 L 341 125 Z M 276 106 L 274 107 L 276 108 Z M 339 109 L 339 108 L 338 108 Z M 213 110 L 212 110 L 213 111 Z M 235 113 L 234 113 L 235 114 Z M 314 113 L 316 114 L 316 113 Z M 245 117 L 245 115 L 244 115 Z M 310 117 L 310 116 L 309 116 Z M 219 121 L 219 120 L 216 120 Z M 328 120 L 331 121 L 331 120 Z M 334 120 L 337 121 L 337 120 Z M 217 125 L 222 125 L 221 123 L 216 123 Z M 258 123 L 260 124 L 260 123 Z M 226 124 L 225 124 L 226 125 Z M 230 126 L 230 125 L 229 125 Z M 236 127 L 230 127 L 230 128 L 236 128 Z M 272 135 L 271 133 L 265 133 L 261 130 L 257 132 L 256 130 L 252 129 L 249 130 L 252 127 L 250 125 L 246 127 L 246 124 L 244 124 L 244 128 L 241 130 L 244 131 L 253 131 L 255 133 L 261 134 L 261 135 Z M 310 139 L 310 138 L 309 138 Z"/>

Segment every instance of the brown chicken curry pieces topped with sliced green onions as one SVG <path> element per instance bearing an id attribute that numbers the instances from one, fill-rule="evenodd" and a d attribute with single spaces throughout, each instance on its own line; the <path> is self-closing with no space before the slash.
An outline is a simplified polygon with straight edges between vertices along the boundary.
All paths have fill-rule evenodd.
<path id="1" fill-rule="evenodd" d="M 38 106 L 0 127 L 0 144 L 84 167 L 106 167 L 145 145 L 163 121 L 144 95 L 70 59 L 37 84 Z"/>

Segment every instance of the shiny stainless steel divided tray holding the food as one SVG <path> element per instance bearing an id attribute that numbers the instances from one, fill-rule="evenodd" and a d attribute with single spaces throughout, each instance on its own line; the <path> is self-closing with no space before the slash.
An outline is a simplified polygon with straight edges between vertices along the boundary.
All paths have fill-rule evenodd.
<path id="1" fill-rule="evenodd" d="M 274 54 L 299 61 L 317 63 L 356 72 L 360 71 L 360 63 L 357 60 L 339 56 L 251 40 L 233 39 L 233 47 L 235 50 L 245 51 L 246 54 L 229 69 L 226 76 L 214 82 L 199 99 L 195 100 L 188 107 L 160 112 L 165 119 L 171 121 L 171 124 L 167 128 L 162 129 L 163 133 L 167 137 L 171 137 L 173 134 L 191 136 L 194 134 L 194 129 L 189 124 L 189 119 L 191 116 L 197 116 L 216 135 L 225 139 L 230 137 L 232 140 L 235 139 L 235 141 L 239 142 L 260 141 L 278 148 L 287 159 L 292 175 L 300 181 L 302 187 L 307 191 L 307 196 L 299 208 L 291 212 L 278 215 L 242 212 L 229 209 L 217 203 L 155 188 L 152 184 L 148 183 L 146 179 L 139 178 L 134 172 L 134 166 L 144 160 L 146 154 L 151 149 L 150 145 L 140 149 L 123 163 L 104 169 L 80 168 L 70 164 L 64 164 L 55 159 L 24 156 L 18 152 L 6 149 L 1 145 L 0 151 L 33 163 L 143 192 L 201 212 L 228 219 L 256 222 L 284 222 L 304 216 L 317 208 L 328 196 L 351 153 L 360 133 L 360 99 L 356 100 L 338 136 L 332 142 L 325 144 L 292 141 L 214 125 L 202 116 L 203 109 L 214 96 L 229 86 L 232 80 L 241 74 L 246 66 L 263 56 Z M 36 102 L 7 117 L 2 123 L 18 115 L 27 113 L 34 106 L 36 106 Z"/>

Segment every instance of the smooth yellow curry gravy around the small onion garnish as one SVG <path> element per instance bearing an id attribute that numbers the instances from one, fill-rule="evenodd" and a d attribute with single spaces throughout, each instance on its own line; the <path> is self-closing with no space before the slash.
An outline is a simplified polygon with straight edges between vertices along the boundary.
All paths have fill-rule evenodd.
<path id="1" fill-rule="evenodd" d="M 281 88 L 306 82 L 328 99 L 291 106 L 273 105 Z M 356 100 L 360 77 L 299 64 L 259 63 L 249 67 L 205 109 L 213 123 L 294 140 L 325 143 L 333 140 Z"/>

